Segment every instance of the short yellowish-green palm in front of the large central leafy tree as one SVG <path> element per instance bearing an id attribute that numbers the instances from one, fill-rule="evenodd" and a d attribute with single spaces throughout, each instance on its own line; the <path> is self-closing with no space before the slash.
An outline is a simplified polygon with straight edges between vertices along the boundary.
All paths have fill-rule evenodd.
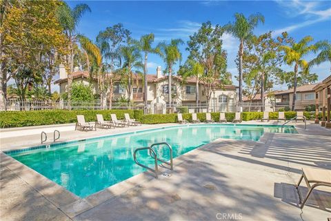
<path id="1" fill-rule="evenodd" d="M 188 59 L 179 69 L 179 75 L 185 81 L 188 77 L 195 77 L 195 102 L 199 106 L 199 77 L 203 75 L 203 65 L 193 59 Z"/>

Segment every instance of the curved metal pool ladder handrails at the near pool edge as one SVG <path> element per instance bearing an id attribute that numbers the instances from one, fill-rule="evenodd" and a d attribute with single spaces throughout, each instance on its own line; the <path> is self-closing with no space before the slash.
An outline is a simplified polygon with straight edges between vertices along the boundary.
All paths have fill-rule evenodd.
<path id="1" fill-rule="evenodd" d="M 160 145 L 163 145 L 163 146 L 168 146 L 169 148 L 169 151 L 170 151 L 170 162 L 167 162 L 165 160 L 161 160 L 157 157 L 157 153 L 154 151 L 153 149 L 153 146 L 160 146 Z M 149 154 L 150 156 L 154 159 L 154 169 L 144 165 L 144 164 L 141 164 L 138 162 L 137 160 L 137 152 L 138 151 L 143 151 L 143 150 L 148 150 L 149 151 Z M 141 148 L 137 148 L 134 153 L 133 153 L 133 159 L 134 159 L 134 162 L 136 162 L 136 164 L 138 164 L 139 166 L 145 168 L 145 169 L 148 169 L 149 171 L 152 171 L 154 174 L 155 174 L 155 177 L 157 178 L 159 176 L 159 167 L 157 165 L 157 162 L 163 162 L 163 164 L 167 164 L 170 166 L 170 169 L 173 170 L 174 169 L 174 166 L 173 166 L 173 163 L 172 163 L 172 147 L 170 146 L 170 144 L 166 143 L 166 142 L 161 142 L 161 143 L 155 143 L 155 144 L 152 144 L 151 146 L 146 146 L 146 147 L 141 147 Z"/>

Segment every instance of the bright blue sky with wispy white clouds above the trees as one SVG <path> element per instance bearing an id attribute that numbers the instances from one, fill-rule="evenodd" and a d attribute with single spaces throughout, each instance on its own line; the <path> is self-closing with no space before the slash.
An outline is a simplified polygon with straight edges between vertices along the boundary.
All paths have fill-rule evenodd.
<path id="1" fill-rule="evenodd" d="M 132 32 L 132 37 L 153 32 L 155 44 L 181 38 L 188 41 L 189 36 L 199 29 L 201 23 L 211 21 L 213 25 L 223 26 L 233 21 L 235 12 L 249 16 L 260 12 L 265 16 L 264 25 L 254 30 L 260 35 L 273 30 L 274 37 L 286 30 L 294 39 L 306 35 L 314 41 L 331 39 L 331 1 L 67 1 L 71 7 L 77 3 L 88 3 L 92 12 L 87 12 L 79 23 L 79 32 L 92 40 L 100 30 L 115 23 L 123 23 Z M 223 35 L 223 47 L 228 51 L 228 71 L 237 75 L 234 59 L 238 50 L 238 41 L 231 35 Z M 181 46 L 183 61 L 188 55 L 185 46 Z M 308 55 L 310 60 L 314 55 Z M 157 66 L 165 65 L 157 55 L 150 55 L 148 72 L 155 73 Z M 292 67 L 283 66 L 285 70 Z M 178 68 L 177 68 L 178 69 Z M 312 72 L 319 80 L 330 75 L 330 63 L 314 67 Z M 234 80 L 234 77 L 232 77 Z M 234 80 L 234 84 L 237 81 Z M 285 89 L 286 86 L 275 86 Z"/>

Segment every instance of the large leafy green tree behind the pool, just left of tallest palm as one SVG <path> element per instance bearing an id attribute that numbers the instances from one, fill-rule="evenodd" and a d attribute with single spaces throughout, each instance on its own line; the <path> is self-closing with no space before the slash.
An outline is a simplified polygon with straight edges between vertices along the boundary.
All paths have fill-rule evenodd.
<path id="1" fill-rule="evenodd" d="M 220 80 L 221 84 L 230 83 L 229 74 L 226 73 L 227 54 L 222 48 L 222 35 L 223 29 L 219 25 L 213 27 L 210 21 L 202 23 L 201 28 L 190 36 L 186 48 L 190 52 L 188 59 L 196 62 L 198 70 L 199 66 L 203 67 L 203 73 L 200 77 L 199 73 L 196 73 L 196 77 L 198 76 L 197 80 L 203 83 L 208 111 L 213 88 L 221 86 Z"/>

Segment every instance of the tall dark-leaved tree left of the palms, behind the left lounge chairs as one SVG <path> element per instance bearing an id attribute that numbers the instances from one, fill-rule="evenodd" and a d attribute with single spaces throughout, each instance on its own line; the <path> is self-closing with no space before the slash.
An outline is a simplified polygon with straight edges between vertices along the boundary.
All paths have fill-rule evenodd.
<path id="1" fill-rule="evenodd" d="M 114 95 L 114 82 L 120 79 L 121 73 L 121 50 L 120 48 L 128 43 L 131 32 L 117 23 L 99 32 L 97 46 L 103 57 L 103 68 L 107 75 L 105 88 L 108 89 L 109 108 L 112 108 L 112 96 Z"/>

